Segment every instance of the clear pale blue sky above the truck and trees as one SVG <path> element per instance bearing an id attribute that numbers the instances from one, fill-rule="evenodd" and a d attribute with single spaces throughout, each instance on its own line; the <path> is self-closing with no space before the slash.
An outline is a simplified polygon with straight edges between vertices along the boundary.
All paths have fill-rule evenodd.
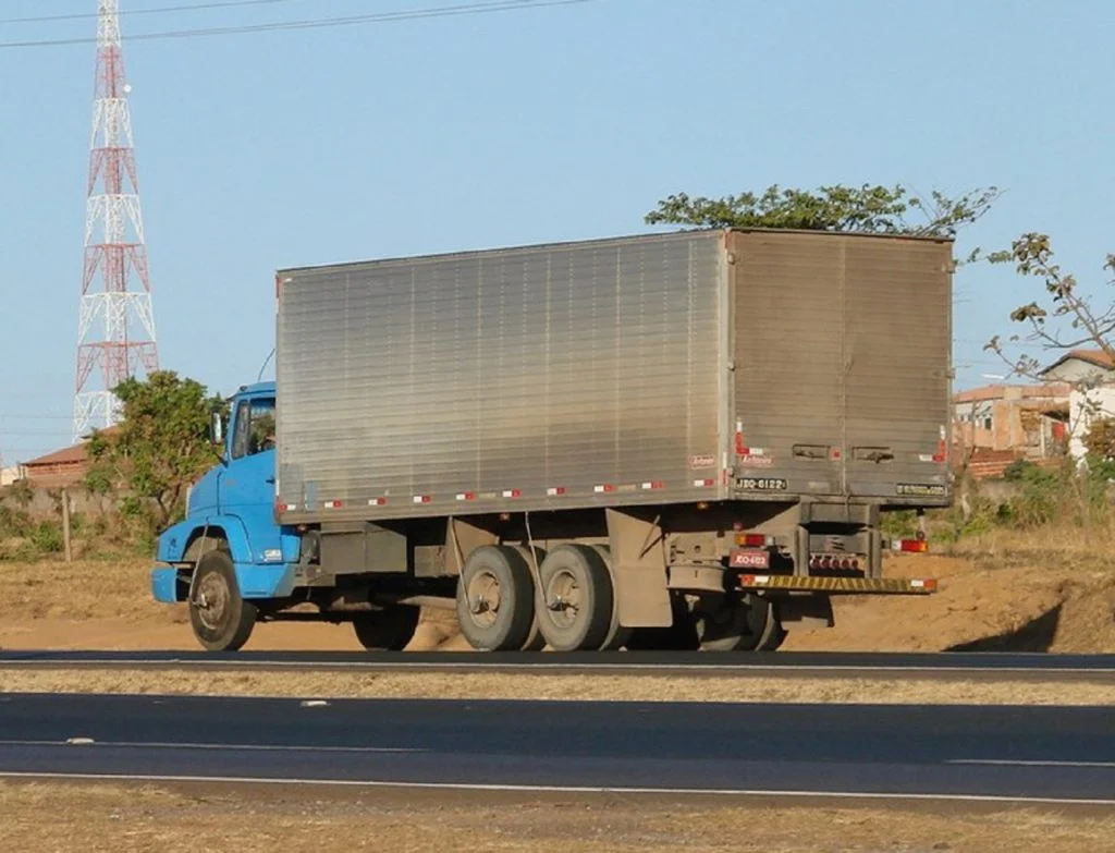
<path id="1" fill-rule="evenodd" d="M 162 367 L 222 394 L 273 376 L 277 269 L 642 233 L 676 192 L 995 185 L 958 256 L 1038 231 L 1106 278 L 1108 0 L 588 0 L 128 40 L 464 1 L 120 0 Z M 3 464 L 69 443 L 95 57 L 7 45 L 96 33 L 9 21 L 95 11 L 0 0 Z M 982 345 L 1036 284 L 958 272 L 958 389 L 1005 372 Z"/>

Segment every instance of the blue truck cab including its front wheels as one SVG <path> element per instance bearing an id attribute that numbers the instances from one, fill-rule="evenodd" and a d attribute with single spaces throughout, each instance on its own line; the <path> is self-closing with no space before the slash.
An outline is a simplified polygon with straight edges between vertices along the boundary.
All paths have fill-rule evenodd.
<path id="1" fill-rule="evenodd" d="M 214 415 L 212 432 L 221 461 L 191 486 L 185 517 L 158 537 L 155 600 L 185 602 L 195 638 L 211 651 L 239 649 L 258 621 L 278 619 L 351 622 L 365 648 L 401 649 L 418 607 L 377 605 L 367 588 L 352 584 L 338 607 L 336 579 L 322 576 L 317 560 L 316 532 L 278 521 L 275 384 L 240 388 L 227 425 Z M 307 602 L 320 612 L 288 612 Z"/>

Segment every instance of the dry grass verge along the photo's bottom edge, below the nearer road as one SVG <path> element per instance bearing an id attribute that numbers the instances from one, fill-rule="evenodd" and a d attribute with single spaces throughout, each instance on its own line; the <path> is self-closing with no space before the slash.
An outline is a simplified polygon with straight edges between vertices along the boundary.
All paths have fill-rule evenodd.
<path id="1" fill-rule="evenodd" d="M 0 845 L 21 853 L 515 851 L 1047 853 L 1115 851 L 1115 818 L 1004 810 L 687 806 L 620 796 L 0 783 Z"/>

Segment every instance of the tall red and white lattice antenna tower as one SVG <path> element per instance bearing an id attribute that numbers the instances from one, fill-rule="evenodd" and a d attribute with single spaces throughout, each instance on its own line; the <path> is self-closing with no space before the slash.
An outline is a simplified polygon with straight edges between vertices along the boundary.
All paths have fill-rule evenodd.
<path id="1" fill-rule="evenodd" d="M 97 81 L 85 213 L 74 440 L 117 423 L 113 389 L 158 369 L 118 0 L 97 0 Z M 137 287 L 129 288 L 129 282 Z"/>

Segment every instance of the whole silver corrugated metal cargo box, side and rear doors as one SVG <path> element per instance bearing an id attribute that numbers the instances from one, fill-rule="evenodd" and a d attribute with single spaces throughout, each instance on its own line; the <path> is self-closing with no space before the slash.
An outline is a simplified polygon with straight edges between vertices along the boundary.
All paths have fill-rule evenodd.
<path id="1" fill-rule="evenodd" d="M 278 284 L 284 523 L 948 503 L 948 241 L 697 231 Z"/>

